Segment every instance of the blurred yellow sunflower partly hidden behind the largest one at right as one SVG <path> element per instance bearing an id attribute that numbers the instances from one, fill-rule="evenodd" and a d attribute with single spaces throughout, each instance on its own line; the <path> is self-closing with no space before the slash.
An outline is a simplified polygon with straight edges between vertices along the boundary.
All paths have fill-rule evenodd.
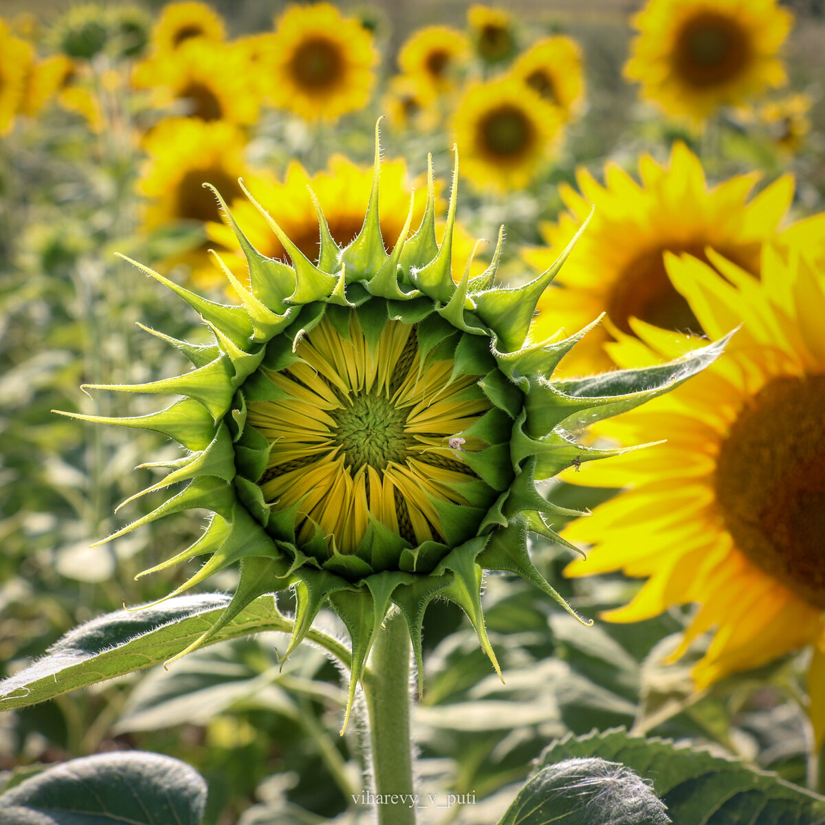
<path id="1" fill-rule="evenodd" d="M 663 252 L 688 252 L 708 260 L 712 247 L 758 274 L 763 242 L 775 237 L 794 194 L 794 181 L 781 177 L 748 200 L 757 172 L 708 187 L 699 158 L 684 144 L 674 144 L 670 162 L 660 166 L 648 155 L 639 161 L 641 185 L 615 163 L 605 167 L 606 186 L 590 172 L 577 170 L 579 192 L 562 186 L 568 212 L 556 224 L 542 224 L 547 247 L 528 249 L 528 263 L 544 271 L 567 246 L 583 221 L 595 212 L 557 281 L 539 303 L 537 337 L 559 327 L 580 328 L 582 318 L 606 311 L 610 323 L 597 327 L 565 357 L 564 375 L 589 375 L 610 367 L 603 345 L 609 328 L 630 331 L 630 318 L 658 326 L 700 332 L 685 299 L 667 279 Z M 586 322 L 587 323 L 587 322 Z"/>

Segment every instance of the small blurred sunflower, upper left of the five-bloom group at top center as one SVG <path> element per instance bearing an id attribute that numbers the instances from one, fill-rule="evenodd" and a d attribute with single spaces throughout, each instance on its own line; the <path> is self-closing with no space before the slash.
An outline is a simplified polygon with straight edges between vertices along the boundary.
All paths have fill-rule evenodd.
<path id="1" fill-rule="evenodd" d="M 450 26 L 424 26 L 398 52 L 402 73 L 442 94 L 454 89 L 469 59 L 469 40 Z"/>

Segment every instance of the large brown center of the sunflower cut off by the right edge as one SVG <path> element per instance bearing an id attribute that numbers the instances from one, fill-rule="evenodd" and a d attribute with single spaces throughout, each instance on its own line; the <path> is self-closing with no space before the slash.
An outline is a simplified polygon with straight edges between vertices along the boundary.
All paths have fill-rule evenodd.
<path id="1" fill-rule="evenodd" d="M 825 608 L 825 375 L 766 384 L 717 460 L 722 516 L 758 568 Z"/>

